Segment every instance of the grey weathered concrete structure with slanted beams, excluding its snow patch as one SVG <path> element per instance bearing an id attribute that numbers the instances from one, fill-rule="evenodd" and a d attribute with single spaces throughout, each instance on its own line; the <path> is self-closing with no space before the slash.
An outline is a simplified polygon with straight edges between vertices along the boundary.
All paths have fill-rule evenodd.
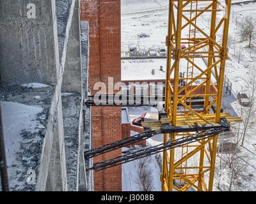
<path id="1" fill-rule="evenodd" d="M 28 3 L 35 4 L 36 19 L 26 18 Z M 9 167 L 14 172 L 15 185 L 24 182 L 13 186 L 12 190 L 84 191 L 87 187 L 82 135 L 86 92 L 83 88 L 86 86 L 82 75 L 86 71 L 82 72 L 81 66 L 79 1 L 1 1 L 0 11 L 0 82 L 4 82 L 1 83 L 0 100 L 40 105 L 44 110 L 41 115 L 44 120 L 40 120 L 40 115 L 36 117 L 44 131 L 37 129 L 37 135 L 31 135 L 25 129 L 21 133 L 22 137 L 29 138 L 29 141 L 26 138 L 25 142 L 20 142 L 20 147 L 25 148 L 22 155 L 24 152 L 24 156 L 31 155 L 26 163 L 20 161 L 20 166 L 24 167 L 22 172 L 17 173 L 15 166 Z M 87 63 L 85 70 L 88 70 Z M 20 84 L 31 82 L 46 86 L 40 89 L 20 87 Z M 61 89 L 77 95 L 61 98 Z M 35 145 L 32 137 L 41 139 L 36 140 L 39 143 Z M 26 168 L 36 171 L 36 182 L 30 186 L 25 183 Z"/>

